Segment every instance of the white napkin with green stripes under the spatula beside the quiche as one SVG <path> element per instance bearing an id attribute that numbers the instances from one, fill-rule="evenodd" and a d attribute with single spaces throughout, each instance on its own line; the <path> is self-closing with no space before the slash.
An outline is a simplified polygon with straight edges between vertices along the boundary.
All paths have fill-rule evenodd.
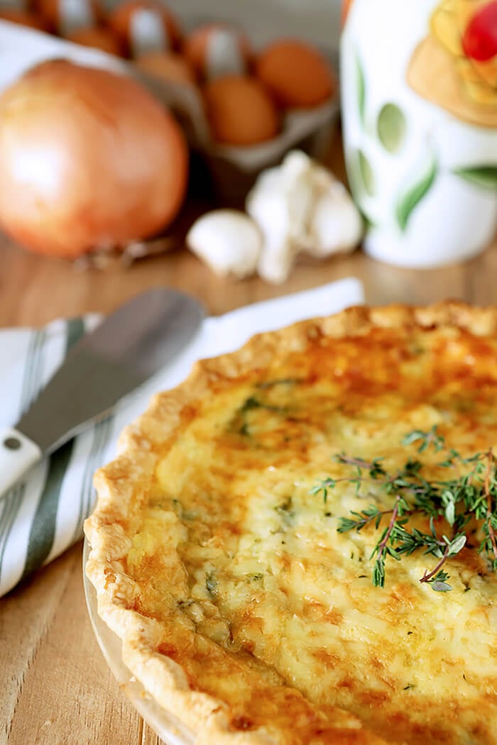
<path id="1" fill-rule="evenodd" d="M 0 596 L 80 540 L 95 498 L 93 474 L 114 457 L 118 434 L 145 410 L 153 393 L 177 385 L 195 360 L 231 352 L 257 332 L 361 302 L 361 283 L 349 278 L 206 318 L 183 352 L 113 416 L 39 463 L 25 483 L 0 498 Z M 0 329 L 0 425 L 15 424 L 72 344 L 98 321 L 89 315 L 55 320 L 40 330 Z"/>

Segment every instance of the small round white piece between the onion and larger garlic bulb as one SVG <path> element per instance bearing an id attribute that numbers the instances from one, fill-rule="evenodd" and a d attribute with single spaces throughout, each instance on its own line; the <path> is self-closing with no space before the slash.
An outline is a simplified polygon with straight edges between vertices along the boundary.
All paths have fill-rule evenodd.
<path id="1" fill-rule="evenodd" d="M 186 244 L 216 274 L 243 279 L 256 271 L 262 234 L 244 212 L 215 209 L 194 222 Z"/>

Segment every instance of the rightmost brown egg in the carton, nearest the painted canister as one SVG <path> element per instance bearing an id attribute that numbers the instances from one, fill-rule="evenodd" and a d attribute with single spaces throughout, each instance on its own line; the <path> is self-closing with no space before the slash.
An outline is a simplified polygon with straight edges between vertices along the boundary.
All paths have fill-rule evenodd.
<path id="1" fill-rule="evenodd" d="M 335 73 L 314 47 L 294 39 L 274 42 L 256 60 L 256 75 L 285 108 L 318 106 L 336 90 Z"/>

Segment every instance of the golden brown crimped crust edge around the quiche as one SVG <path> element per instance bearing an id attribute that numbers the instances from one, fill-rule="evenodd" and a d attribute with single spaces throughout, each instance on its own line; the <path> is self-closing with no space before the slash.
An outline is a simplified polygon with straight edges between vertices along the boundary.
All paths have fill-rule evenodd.
<path id="1" fill-rule="evenodd" d="M 145 498 L 157 463 L 184 422 L 194 416 L 192 402 L 215 396 L 220 387 L 243 375 L 256 372 L 264 379 L 265 370 L 275 358 L 284 358 L 288 353 L 305 355 L 309 343 L 318 337 L 355 337 L 360 344 L 361 337 L 372 329 L 403 329 L 409 333 L 410 329 L 432 327 L 463 329 L 477 337 L 495 337 L 497 309 L 471 307 L 462 302 L 443 302 L 425 308 L 355 307 L 332 317 L 257 335 L 237 352 L 198 362 L 183 384 L 155 396 L 143 416 L 121 435 L 116 460 L 95 475 L 98 502 L 85 524 L 92 547 L 86 574 L 98 592 L 99 615 L 121 637 L 126 665 L 159 706 L 173 712 L 191 728 L 199 744 L 381 745 L 391 741 L 369 732 L 353 714 L 332 706 L 326 710 L 325 722 L 322 711 L 315 711 L 303 694 L 290 685 L 283 686 L 273 696 L 273 717 L 266 720 L 270 723 L 255 728 L 250 726 L 250 720 L 244 720 L 244 711 L 196 690 L 194 679 L 173 659 L 171 650 L 174 650 L 175 640 L 169 636 L 171 645 L 168 646 L 162 621 L 139 612 L 137 598 L 142 589 L 127 574 L 124 561 L 131 545 L 127 533 L 130 505 L 133 504 L 135 510 L 140 499 Z M 174 583 L 174 577 L 171 582 Z M 379 591 L 372 588 L 371 592 Z M 220 675 L 225 671 L 228 676 L 235 676 L 234 668 L 224 667 L 223 655 L 212 641 L 206 641 L 206 664 L 219 665 Z M 229 665 L 235 665 L 235 661 L 231 660 Z M 248 671 L 243 680 L 244 685 L 252 686 L 253 695 L 259 697 L 260 706 L 264 708 L 268 691 L 259 682 L 256 671 Z M 305 728 L 295 734 L 298 717 L 307 717 L 307 736 L 302 734 Z M 481 740 L 481 743 L 487 742 L 490 741 Z"/>

